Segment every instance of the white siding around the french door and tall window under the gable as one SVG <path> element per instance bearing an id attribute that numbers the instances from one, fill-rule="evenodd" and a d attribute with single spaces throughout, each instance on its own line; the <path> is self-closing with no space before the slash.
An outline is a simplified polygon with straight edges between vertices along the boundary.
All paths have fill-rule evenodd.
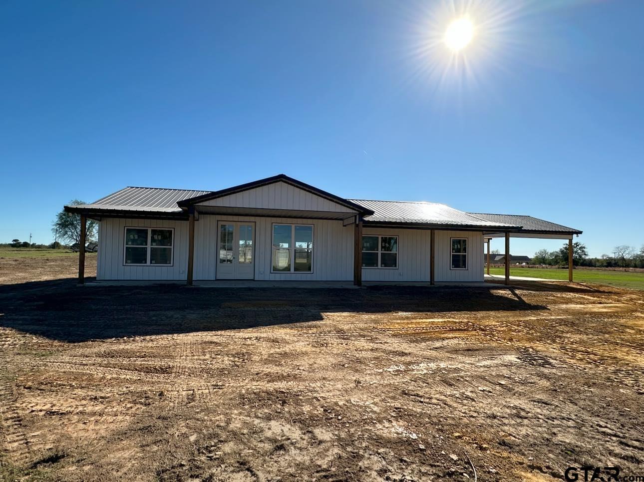
<path id="1" fill-rule="evenodd" d="M 194 223 L 194 279 L 215 279 L 218 263 L 218 221 L 255 223 L 255 279 L 267 281 L 352 281 L 354 227 L 327 219 L 260 218 L 252 216 L 199 216 Z M 272 225 L 313 225 L 313 272 L 271 273 Z"/>

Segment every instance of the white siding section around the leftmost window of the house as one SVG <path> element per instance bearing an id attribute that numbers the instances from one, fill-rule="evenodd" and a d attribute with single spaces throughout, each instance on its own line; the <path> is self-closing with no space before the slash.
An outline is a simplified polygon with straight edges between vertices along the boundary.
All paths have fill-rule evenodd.
<path id="1" fill-rule="evenodd" d="M 173 265 L 123 264 L 125 228 L 174 228 Z M 99 222 L 96 279 L 184 280 L 188 265 L 187 221 L 103 218 Z"/>

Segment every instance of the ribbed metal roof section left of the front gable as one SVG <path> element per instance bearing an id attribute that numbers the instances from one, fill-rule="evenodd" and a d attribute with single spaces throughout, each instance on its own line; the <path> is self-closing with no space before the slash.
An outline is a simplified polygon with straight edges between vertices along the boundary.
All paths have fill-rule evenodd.
<path id="1" fill-rule="evenodd" d="M 202 196 L 211 191 L 191 189 L 164 189 L 160 187 L 126 187 L 90 204 L 70 206 L 79 209 L 182 212 L 178 201 Z"/>

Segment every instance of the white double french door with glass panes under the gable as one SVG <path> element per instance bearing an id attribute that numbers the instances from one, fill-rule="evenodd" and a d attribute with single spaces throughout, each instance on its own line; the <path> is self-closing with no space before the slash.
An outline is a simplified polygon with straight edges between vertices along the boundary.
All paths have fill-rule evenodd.
<path id="1" fill-rule="evenodd" d="M 255 223 L 217 223 L 217 279 L 254 279 Z"/>

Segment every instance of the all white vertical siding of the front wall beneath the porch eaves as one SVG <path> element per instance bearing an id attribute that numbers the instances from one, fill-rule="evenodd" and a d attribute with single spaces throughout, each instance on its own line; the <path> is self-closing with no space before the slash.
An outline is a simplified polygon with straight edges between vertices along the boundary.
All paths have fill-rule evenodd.
<path id="1" fill-rule="evenodd" d="M 325 208 L 326 209 L 326 208 Z M 354 275 L 354 225 L 322 219 L 207 216 L 194 225 L 194 279 L 215 279 L 217 221 L 254 221 L 255 279 L 293 281 L 351 281 Z M 272 223 L 314 225 L 313 273 L 271 273 Z M 173 266 L 124 266 L 126 227 L 175 228 Z M 364 234 L 398 236 L 398 269 L 363 268 L 363 281 L 429 281 L 430 231 L 395 228 L 364 228 Z M 468 239 L 468 269 L 450 270 L 450 237 Z M 436 281 L 483 281 L 483 236 L 481 232 L 436 232 Z M 110 219 L 99 223 L 97 279 L 185 280 L 188 252 L 187 221 Z"/>

